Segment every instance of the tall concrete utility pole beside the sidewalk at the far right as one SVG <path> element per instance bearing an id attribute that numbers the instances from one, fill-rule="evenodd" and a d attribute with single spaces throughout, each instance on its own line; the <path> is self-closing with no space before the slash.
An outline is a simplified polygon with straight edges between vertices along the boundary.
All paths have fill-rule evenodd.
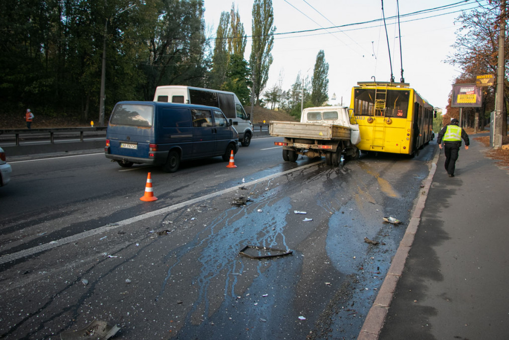
<path id="1" fill-rule="evenodd" d="M 500 2 L 500 21 L 498 33 L 498 65 L 497 65 L 497 92 L 495 100 L 495 120 L 493 122 L 493 148 L 502 147 L 503 115 L 504 109 L 504 41 L 505 41 L 505 0 Z"/>

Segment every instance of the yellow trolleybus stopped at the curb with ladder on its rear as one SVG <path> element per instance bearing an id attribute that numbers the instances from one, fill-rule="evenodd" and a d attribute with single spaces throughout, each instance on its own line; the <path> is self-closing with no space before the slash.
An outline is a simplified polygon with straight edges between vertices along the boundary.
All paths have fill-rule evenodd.
<path id="1" fill-rule="evenodd" d="M 407 83 L 359 82 L 351 108 L 362 151 L 412 155 L 432 139 L 433 107 Z"/>

